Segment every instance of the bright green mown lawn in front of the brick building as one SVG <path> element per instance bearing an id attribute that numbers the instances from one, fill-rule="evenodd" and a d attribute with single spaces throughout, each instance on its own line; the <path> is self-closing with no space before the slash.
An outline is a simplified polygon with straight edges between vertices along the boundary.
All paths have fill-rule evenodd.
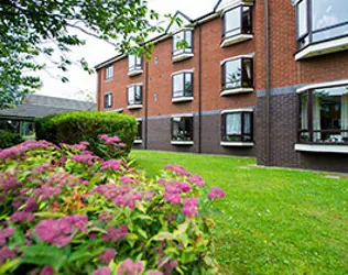
<path id="1" fill-rule="evenodd" d="M 216 257 L 222 274 L 348 274 L 348 177 L 257 167 L 253 158 L 134 151 L 154 177 L 170 163 L 221 187 Z M 342 164 L 346 165 L 346 164 Z"/>

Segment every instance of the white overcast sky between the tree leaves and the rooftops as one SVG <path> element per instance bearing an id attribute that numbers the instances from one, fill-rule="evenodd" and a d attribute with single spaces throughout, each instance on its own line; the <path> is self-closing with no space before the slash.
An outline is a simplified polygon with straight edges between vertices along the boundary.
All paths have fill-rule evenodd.
<path id="1" fill-rule="evenodd" d="M 213 11 L 217 0 L 149 0 L 149 8 L 160 14 L 174 14 L 180 10 L 192 19 Z M 113 46 L 100 40 L 79 34 L 86 40 L 86 45 L 74 47 L 69 53 L 73 59 L 85 57 L 90 67 L 117 55 Z M 47 65 L 50 63 L 47 62 Z M 97 75 L 89 75 L 80 67 L 70 66 L 68 70 L 68 82 L 62 82 L 57 77 L 61 72 L 54 66 L 47 67 L 40 73 L 43 86 L 36 92 L 40 95 L 63 97 L 70 99 L 86 99 L 86 95 L 95 98 L 97 91 Z"/>

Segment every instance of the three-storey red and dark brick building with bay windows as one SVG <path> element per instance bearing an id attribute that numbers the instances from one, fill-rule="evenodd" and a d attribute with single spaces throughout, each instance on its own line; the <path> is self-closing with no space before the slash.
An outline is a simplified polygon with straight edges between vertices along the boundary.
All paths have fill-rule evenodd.
<path id="1" fill-rule="evenodd" d="M 176 15 L 150 62 L 96 66 L 98 108 L 138 118 L 135 147 L 348 172 L 345 0 L 220 0 Z"/>

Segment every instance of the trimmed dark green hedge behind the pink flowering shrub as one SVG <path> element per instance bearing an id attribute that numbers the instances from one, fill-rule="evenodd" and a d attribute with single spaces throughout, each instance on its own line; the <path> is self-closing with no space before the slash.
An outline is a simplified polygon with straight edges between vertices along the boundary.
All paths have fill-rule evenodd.
<path id="1" fill-rule="evenodd" d="M 127 156 L 132 148 L 137 121 L 131 116 L 98 111 L 80 111 L 54 114 L 35 120 L 36 140 L 45 140 L 56 145 L 59 143 L 89 143 L 88 150 L 96 155 L 110 158 L 105 154 L 106 147 L 99 145 L 98 135 L 117 135 L 127 145 L 118 156 Z"/>

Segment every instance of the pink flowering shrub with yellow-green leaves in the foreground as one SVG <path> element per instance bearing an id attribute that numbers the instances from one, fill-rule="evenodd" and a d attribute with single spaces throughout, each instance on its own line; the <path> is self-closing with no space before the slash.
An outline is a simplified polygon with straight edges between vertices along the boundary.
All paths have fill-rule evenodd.
<path id="1" fill-rule="evenodd" d="M 209 213 L 226 195 L 184 167 L 154 180 L 87 142 L 28 141 L 0 152 L 0 170 L 1 274 L 218 273 Z"/>

